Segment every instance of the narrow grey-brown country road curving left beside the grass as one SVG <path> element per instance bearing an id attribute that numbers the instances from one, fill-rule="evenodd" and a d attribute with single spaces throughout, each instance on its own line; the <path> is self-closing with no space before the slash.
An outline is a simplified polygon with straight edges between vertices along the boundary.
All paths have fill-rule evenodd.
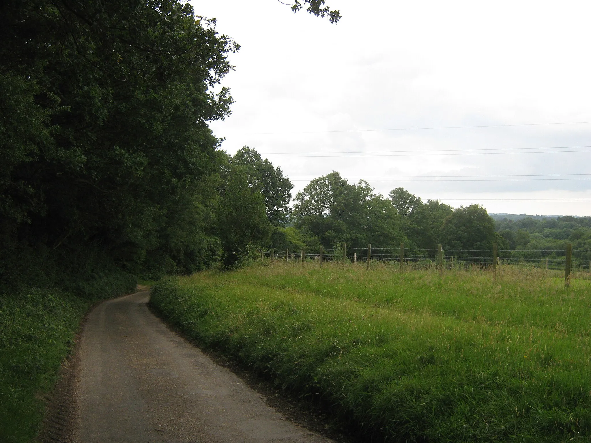
<path id="1" fill-rule="evenodd" d="M 80 443 L 310 442 L 262 396 L 168 329 L 149 292 L 100 304 L 80 341 Z"/>

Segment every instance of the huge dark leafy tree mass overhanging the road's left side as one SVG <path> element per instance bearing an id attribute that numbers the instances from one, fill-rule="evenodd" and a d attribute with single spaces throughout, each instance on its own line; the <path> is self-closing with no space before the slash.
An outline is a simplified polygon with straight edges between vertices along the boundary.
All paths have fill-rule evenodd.
<path id="1" fill-rule="evenodd" d="M 217 173 L 207 122 L 232 98 L 210 88 L 238 45 L 177 0 L 8 0 L 0 41 L 4 259 L 95 245 L 132 269 L 160 248 L 192 269 L 197 237 L 168 227 Z"/>

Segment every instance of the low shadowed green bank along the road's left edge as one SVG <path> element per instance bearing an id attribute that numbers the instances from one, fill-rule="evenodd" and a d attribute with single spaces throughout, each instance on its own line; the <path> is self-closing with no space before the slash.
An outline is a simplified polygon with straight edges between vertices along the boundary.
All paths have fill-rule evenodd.
<path id="1" fill-rule="evenodd" d="M 0 294 L 0 441 L 31 442 L 43 421 L 44 396 L 86 311 L 102 298 L 130 292 L 135 279 L 119 272 L 80 282 L 87 297 L 58 289 Z"/>

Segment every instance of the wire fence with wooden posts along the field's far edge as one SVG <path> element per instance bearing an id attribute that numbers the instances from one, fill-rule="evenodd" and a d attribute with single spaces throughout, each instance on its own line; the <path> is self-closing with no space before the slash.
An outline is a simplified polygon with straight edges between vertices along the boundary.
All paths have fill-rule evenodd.
<path id="1" fill-rule="evenodd" d="M 591 250 L 572 250 L 579 255 Z M 591 272 L 591 260 L 567 256 L 566 249 L 505 250 L 496 251 L 498 265 L 530 266 L 553 271 Z M 519 254 L 521 256 L 515 256 Z M 528 257 L 526 255 L 543 255 Z M 284 260 L 286 262 L 340 262 L 340 263 L 389 263 L 392 266 L 410 266 L 414 269 L 441 266 L 444 269 L 489 268 L 493 266 L 493 249 L 413 249 L 396 247 L 303 249 L 303 250 L 261 250 L 261 259 Z M 303 261 L 302 261 L 303 260 Z M 570 263 L 569 263 L 570 261 Z"/>

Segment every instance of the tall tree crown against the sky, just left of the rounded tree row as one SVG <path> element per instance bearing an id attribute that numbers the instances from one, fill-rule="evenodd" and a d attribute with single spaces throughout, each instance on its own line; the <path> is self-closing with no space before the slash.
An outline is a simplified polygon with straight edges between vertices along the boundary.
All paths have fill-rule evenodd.
<path id="1" fill-rule="evenodd" d="M 233 165 L 245 168 L 251 187 L 261 191 L 267 217 L 273 226 L 284 226 L 290 214 L 291 190 L 294 185 L 268 159 L 262 159 L 255 149 L 243 146 L 232 157 Z"/>

